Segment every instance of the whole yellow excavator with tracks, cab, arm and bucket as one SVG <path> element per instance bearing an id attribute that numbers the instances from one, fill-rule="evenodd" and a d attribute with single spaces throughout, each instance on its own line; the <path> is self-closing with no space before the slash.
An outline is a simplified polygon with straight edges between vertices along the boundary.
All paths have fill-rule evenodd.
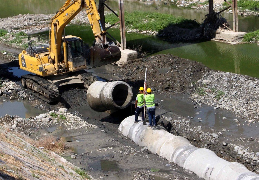
<path id="1" fill-rule="evenodd" d="M 66 36 L 64 31 L 81 10 L 86 12 L 96 39 L 90 48 L 81 38 Z M 38 38 L 36 47 L 32 38 Z M 88 88 L 98 80 L 84 69 L 117 62 L 121 58 L 119 47 L 114 42 L 107 42 L 94 0 L 67 0 L 51 19 L 48 43 L 41 44 L 44 38 L 37 38 L 28 38 L 29 47 L 19 54 L 20 69 L 33 73 L 21 76 L 21 84 L 47 102 L 59 101 L 60 86 L 83 83 Z"/>

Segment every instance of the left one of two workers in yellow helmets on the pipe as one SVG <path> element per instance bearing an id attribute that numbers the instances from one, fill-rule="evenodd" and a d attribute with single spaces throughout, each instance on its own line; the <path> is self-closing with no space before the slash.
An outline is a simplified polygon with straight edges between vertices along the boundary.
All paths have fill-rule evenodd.
<path id="1" fill-rule="evenodd" d="M 136 102 L 135 102 L 135 123 L 138 123 L 138 118 L 140 112 L 142 113 L 142 122 L 143 124 L 146 123 L 145 118 L 144 118 L 144 94 L 143 94 L 144 88 L 140 87 L 139 88 L 139 93 L 136 97 Z"/>

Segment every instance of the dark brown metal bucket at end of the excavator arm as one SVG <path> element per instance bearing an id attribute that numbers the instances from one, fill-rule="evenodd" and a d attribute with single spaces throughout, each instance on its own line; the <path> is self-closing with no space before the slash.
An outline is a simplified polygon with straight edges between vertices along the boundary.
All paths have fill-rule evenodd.
<path id="1" fill-rule="evenodd" d="M 121 58 L 121 52 L 114 42 L 109 43 L 108 47 L 104 48 L 102 44 L 90 48 L 91 67 L 103 66 L 117 62 Z"/>

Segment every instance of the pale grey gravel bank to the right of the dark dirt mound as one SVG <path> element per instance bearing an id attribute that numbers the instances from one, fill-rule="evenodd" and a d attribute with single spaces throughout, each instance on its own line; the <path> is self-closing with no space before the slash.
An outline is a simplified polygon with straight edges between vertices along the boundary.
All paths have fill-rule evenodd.
<path id="1" fill-rule="evenodd" d="M 200 106 L 206 103 L 214 109 L 223 108 L 244 122 L 259 121 L 259 81 L 250 76 L 211 71 L 195 84 L 192 99 Z"/>

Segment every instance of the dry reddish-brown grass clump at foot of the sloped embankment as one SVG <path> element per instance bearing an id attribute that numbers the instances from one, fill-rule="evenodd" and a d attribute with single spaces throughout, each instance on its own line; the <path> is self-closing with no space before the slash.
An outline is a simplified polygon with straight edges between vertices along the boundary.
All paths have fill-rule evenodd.
<path id="1" fill-rule="evenodd" d="M 44 147 L 44 149 L 48 149 L 55 153 L 62 153 L 68 148 L 63 139 L 56 141 L 56 138 L 53 136 L 44 137 L 41 141 L 38 141 L 37 146 Z"/>

